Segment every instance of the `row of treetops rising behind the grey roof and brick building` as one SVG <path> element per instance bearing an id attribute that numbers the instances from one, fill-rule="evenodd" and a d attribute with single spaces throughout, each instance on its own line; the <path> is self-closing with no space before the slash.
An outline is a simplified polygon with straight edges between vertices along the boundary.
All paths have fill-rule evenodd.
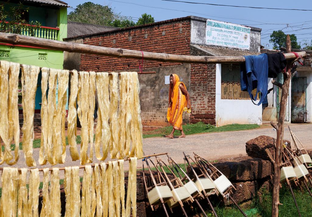
<path id="1" fill-rule="evenodd" d="M 68 21 L 78 23 L 89 23 L 102 26 L 113 26 L 119 28 L 126 28 L 147 23 L 154 23 L 154 18 L 150 14 L 142 14 L 138 22 L 132 21 L 131 17 L 126 18 L 119 16 L 112 8 L 105 5 L 95 4 L 92 2 L 85 2 L 77 6 L 77 8 L 70 12 L 67 16 Z"/>

